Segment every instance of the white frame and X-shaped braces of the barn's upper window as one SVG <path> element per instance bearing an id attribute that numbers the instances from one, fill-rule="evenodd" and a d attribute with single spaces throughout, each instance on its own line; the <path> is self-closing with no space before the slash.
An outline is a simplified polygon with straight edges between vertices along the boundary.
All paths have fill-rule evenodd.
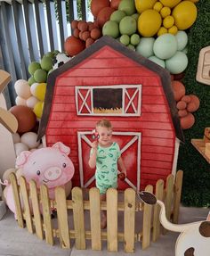
<path id="1" fill-rule="evenodd" d="M 120 88 L 123 90 L 123 94 L 122 94 L 122 113 L 94 113 L 93 112 L 93 89 L 116 89 L 116 88 Z M 129 95 L 127 89 L 131 89 L 131 88 L 135 88 L 135 92 L 133 93 L 133 95 Z M 80 90 L 86 90 L 87 93 L 85 96 L 83 96 L 80 93 Z M 137 103 L 137 108 L 134 106 L 133 103 L 133 99 L 134 97 L 138 94 L 138 103 Z M 86 99 L 88 96 L 91 96 L 91 108 L 88 106 L 88 104 L 86 103 Z M 126 108 L 125 108 L 125 95 L 128 97 L 128 99 L 130 100 L 129 103 L 127 104 Z M 83 101 L 82 105 L 80 106 L 80 108 L 78 107 L 78 97 L 80 97 Z M 141 116 L 141 85 L 114 85 L 114 86 L 102 86 L 102 87 L 75 87 L 75 98 L 76 98 L 76 108 L 77 108 L 77 115 L 78 116 Z M 84 108 L 84 106 L 87 109 L 87 113 L 83 113 L 82 110 Z M 132 106 L 133 107 L 133 113 L 129 113 L 126 112 L 128 110 L 128 108 Z"/>

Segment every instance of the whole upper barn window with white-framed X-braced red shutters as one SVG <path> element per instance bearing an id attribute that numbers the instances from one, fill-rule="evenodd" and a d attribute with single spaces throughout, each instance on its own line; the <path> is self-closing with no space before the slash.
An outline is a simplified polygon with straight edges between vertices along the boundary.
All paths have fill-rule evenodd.
<path id="1" fill-rule="evenodd" d="M 141 85 L 76 87 L 77 115 L 140 116 Z"/>

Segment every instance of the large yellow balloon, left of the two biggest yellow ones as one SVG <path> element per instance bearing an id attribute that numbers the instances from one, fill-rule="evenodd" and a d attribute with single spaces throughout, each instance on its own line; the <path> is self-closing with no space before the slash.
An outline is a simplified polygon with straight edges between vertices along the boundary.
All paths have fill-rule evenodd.
<path id="1" fill-rule="evenodd" d="M 149 9 L 141 13 L 138 19 L 138 30 L 143 37 L 153 37 L 162 23 L 159 12 Z"/>

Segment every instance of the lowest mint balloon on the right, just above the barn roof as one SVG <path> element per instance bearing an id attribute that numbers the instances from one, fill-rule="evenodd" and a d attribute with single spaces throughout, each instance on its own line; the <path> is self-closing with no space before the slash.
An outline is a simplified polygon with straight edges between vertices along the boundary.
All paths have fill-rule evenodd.
<path id="1" fill-rule="evenodd" d="M 180 51 L 177 51 L 174 56 L 166 60 L 166 69 L 169 70 L 171 74 L 182 73 L 183 70 L 187 68 L 188 57 Z"/>

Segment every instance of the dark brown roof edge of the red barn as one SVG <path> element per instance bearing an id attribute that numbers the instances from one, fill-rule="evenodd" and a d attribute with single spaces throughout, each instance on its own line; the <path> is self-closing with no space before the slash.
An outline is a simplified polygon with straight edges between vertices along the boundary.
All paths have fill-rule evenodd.
<path id="1" fill-rule="evenodd" d="M 50 73 L 47 79 L 47 88 L 44 98 L 44 111 L 38 129 L 38 139 L 40 139 L 45 134 L 45 129 L 50 117 L 53 87 L 55 85 L 56 78 L 58 78 L 63 72 L 66 72 L 69 69 L 75 67 L 78 63 L 83 62 L 86 58 L 90 57 L 92 54 L 94 54 L 104 46 L 109 46 L 118 53 L 125 55 L 127 58 L 133 60 L 134 62 L 137 62 L 137 64 L 140 64 L 141 66 L 144 66 L 145 68 L 158 74 L 158 76 L 161 78 L 166 99 L 170 107 L 171 116 L 174 123 L 175 134 L 183 142 L 184 137 L 182 133 L 182 128 L 180 126 L 180 119 L 178 117 L 178 112 L 176 109 L 176 103 L 174 100 L 174 94 L 171 87 L 171 78 L 169 72 L 166 69 L 160 67 L 155 62 L 149 61 L 149 59 L 134 52 L 125 45 L 122 45 L 116 39 L 113 39 L 112 37 L 108 36 L 101 37 L 93 45 L 86 48 L 80 54 L 77 54 L 77 56 L 72 58 L 69 62 L 66 62 L 59 69 L 54 70 L 52 71 L 52 73 Z"/>

